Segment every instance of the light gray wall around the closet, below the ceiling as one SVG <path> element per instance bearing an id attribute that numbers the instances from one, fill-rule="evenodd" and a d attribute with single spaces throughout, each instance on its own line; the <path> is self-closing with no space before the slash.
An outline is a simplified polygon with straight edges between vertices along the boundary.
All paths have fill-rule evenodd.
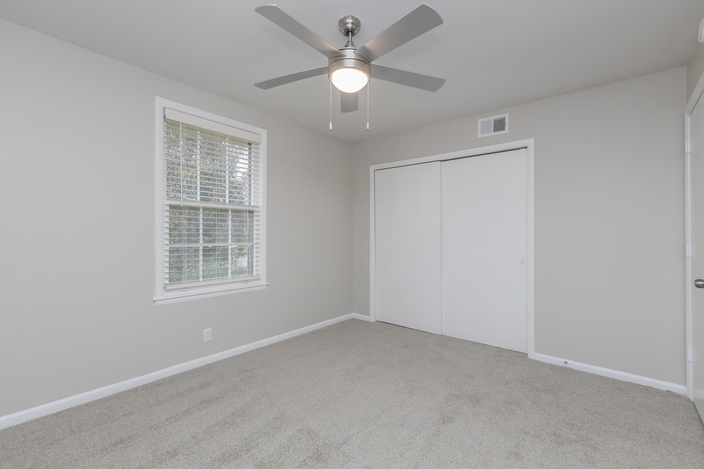
<path id="1" fill-rule="evenodd" d="M 534 137 L 536 352 L 684 385 L 685 74 L 358 143 L 354 311 L 369 311 L 370 165 Z M 477 139 L 477 117 L 507 111 L 508 134 Z"/>

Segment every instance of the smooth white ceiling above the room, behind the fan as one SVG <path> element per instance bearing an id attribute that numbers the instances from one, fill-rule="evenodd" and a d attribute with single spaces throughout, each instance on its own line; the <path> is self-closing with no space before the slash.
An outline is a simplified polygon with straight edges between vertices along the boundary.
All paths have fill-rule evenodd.
<path id="1" fill-rule="evenodd" d="M 684 65 L 701 0 L 426 0 L 444 25 L 377 60 L 447 79 L 435 93 L 372 80 L 371 130 L 360 110 L 328 126 L 325 75 L 260 90 L 253 83 L 327 65 L 254 12 L 267 0 L 0 0 L 0 17 L 341 139 L 359 141 Z M 271 0 L 268 0 L 271 1 Z M 280 0 L 330 44 L 356 15 L 364 44 L 422 0 Z M 470 129 L 474 131 L 474 129 Z"/>

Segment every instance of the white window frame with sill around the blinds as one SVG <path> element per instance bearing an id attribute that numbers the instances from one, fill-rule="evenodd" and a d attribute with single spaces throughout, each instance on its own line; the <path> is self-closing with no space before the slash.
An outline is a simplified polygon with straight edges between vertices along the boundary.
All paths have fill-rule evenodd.
<path id="1" fill-rule="evenodd" d="M 165 181 L 164 181 L 164 109 L 170 108 L 201 117 L 203 119 L 218 122 L 237 129 L 246 130 L 259 134 L 261 143 L 259 144 L 259 165 L 260 165 L 260 265 L 258 278 L 244 277 L 242 280 L 232 280 L 222 283 L 191 283 L 183 288 L 166 289 L 163 278 L 164 269 L 164 228 L 163 212 L 165 203 Z M 164 304 L 180 303 L 203 298 L 218 297 L 222 295 L 232 295 L 234 293 L 246 293 L 256 290 L 263 290 L 268 285 L 266 281 L 266 150 L 267 136 L 266 129 L 260 129 L 244 122 L 238 122 L 228 117 L 208 113 L 207 111 L 191 108 L 191 106 L 169 101 L 168 99 L 155 98 L 155 122 L 154 122 L 154 296 L 152 298 L 154 306 Z M 225 208 L 225 207 L 223 207 Z M 232 209 L 236 207 L 231 207 Z"/>

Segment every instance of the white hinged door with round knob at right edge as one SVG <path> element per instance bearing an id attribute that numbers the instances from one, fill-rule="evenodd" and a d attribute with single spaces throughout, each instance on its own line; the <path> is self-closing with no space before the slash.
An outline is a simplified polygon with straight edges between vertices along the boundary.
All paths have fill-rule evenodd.
<path id="1" fill-rule="evenodd" d="M 704 98 L 690 116 L 689 132 L 692 398 L 704 418 L 704 288 L 696 288 L 704 280 Z"/>

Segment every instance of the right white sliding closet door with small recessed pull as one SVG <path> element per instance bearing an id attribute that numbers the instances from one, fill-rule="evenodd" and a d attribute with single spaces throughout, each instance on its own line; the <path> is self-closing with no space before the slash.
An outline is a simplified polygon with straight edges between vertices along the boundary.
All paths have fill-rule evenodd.
<path id="1" fill-rule="evenodd" d="M 527 352 L 526 179 L 527 150 L 442 162 L 444 335 Z"/>

